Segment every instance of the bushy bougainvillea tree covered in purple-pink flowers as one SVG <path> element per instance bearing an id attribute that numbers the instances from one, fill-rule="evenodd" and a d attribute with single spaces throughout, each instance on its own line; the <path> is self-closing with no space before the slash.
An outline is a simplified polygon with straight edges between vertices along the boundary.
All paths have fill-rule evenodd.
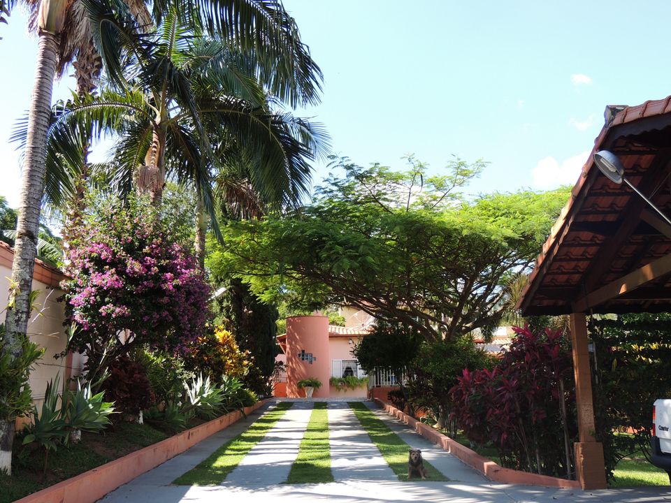
<path id="1" fill-rule="evenodd" d="M 192 254 L 147 201 L 110 199 L 87 217 L 66 273 L 69 349 L 86 353 L 87 377 L 140 344 L 179 353 L 202 335 L 210 289 Z"/>

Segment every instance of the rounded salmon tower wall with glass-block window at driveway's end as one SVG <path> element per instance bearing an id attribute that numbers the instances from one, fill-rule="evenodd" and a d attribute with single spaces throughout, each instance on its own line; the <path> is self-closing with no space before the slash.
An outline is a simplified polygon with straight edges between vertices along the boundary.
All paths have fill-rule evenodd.
<path id="1" fill-rule="evenodd" d="M 301 350 L 312 353 L 317 360 L 312 364 L 298 358 Z M 329 397 L 331 356 L 329 355 L 329 318 L 326 316 L 291 316 L 287 318 L 287 396 L 299 398 L 305 391 L 296 383 L 301 379 L 317 377 L 322 387 L 315 389 L 315 398 Z"/>

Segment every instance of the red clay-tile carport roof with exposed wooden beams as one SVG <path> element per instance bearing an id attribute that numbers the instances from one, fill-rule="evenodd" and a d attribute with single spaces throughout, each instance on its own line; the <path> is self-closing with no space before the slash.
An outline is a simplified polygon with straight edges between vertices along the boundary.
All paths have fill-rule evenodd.
<path id="1" fill-rule="evenodd" d="M 670 102 L 606 108 L 605 126 L 518 303 L 524 315 L 671 311 L 671 226 L 593 161 L 599 150 L 619 156 L 625 177 L 671 214 Z"/>

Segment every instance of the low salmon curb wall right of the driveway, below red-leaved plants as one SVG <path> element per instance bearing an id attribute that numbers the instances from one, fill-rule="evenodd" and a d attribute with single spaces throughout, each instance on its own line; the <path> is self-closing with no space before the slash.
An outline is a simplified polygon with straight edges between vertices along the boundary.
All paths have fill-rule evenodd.
<path id="1" fill-rule="evenodd" d="M 431 426 L 425 425 L 424 423 L 417 421 L 417 419 L 404 414 L 402 411 L 396 409 L 396 407 L 393 405 L 385 404 L 382 402 L 382 400 L 377 398 L 375 399 L 375 402 L 380 404 L 380 406 L 382 406 L 385 411 L 389 412 L 389 414 L 395 416 L 400 421 L 403 421 L 403 423 L 414 428 L 414 430 L 417 431 L 419 435 L 427 439 L 429 442 L 439 445 L 443 450 L 465 462 L 466 465 L 477 469 L 478 472 L 481 472 L 484 476 L 487 477 L 487 479 L 490 479 L 491 481 L 526 484 L 528 486 L 544 486 L 551 488 L 580 488 L 580 483 L 578 481 L 559 479 L 558 477 L 549 475 L 532 474 L 528 472 L 520 472 L 519 470 L 510 468 L 504 468 L 492 460 L 479 455 L 475 451 L 468 449 L 468 447 L 459 444 L 459 442 L 456 442 L 456 440 L 442 435 L 442 433 L 440 433 L 438 430 L 435 430 L 435 428 L 431 428 Z"/>

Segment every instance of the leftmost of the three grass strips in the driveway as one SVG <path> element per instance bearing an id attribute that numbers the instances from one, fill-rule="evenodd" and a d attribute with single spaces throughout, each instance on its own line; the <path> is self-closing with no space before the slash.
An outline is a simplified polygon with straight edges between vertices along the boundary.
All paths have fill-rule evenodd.
<path id="1" fill-rule="evenodd" d="M 255 421 L 250 428 L 223 444 L 209 458 L 173 481 L 177 486 L 218 486 L 238 466 L 252 447 L 266 436 L 293 403 L 280 402 Z"/>

